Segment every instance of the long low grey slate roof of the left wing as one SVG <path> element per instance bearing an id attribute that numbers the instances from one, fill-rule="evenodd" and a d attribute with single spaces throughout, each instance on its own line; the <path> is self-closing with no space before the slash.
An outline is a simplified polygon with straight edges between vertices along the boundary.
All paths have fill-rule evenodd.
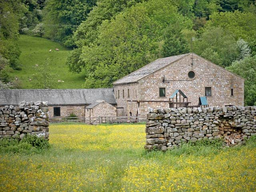
<path id="1" fill-rule="evenodd" d="M 48 101 L 48 105 L 90 105 L 96 100 L 116 104 L 113 88 L 100 89 L 16 89 L 0 90 L 0 105 L 18 105 L 21 101 Z"/>

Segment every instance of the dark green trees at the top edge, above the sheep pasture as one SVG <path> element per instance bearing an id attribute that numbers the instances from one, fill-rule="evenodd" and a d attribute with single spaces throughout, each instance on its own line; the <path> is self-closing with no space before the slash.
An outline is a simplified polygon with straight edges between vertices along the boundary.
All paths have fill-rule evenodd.
<path id="1" fill-rule="evenodd" d="M 43 10 L 46 38 L 73 47 L 73 32 L 95 4 L 96 0 L 47 0 Z"/>

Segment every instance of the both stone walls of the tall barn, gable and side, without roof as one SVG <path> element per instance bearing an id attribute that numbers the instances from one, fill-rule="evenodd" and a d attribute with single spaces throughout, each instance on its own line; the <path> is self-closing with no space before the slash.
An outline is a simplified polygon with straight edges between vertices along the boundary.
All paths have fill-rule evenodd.
<path id="1" fill-rule="evenodd" d="M 192 79 L 188 77 L 190 71 L 195 73 Z M 137 114 L 137 103 L 127 100 L 148 100 L 149 102 L 140 102 L 140 116 L 144 117 L 149 107 L 168 108 L 168 102 L 150 102 L 150 100 L 168 101 L 177 89 L 184 92 L 191 106 L 195 106 L 198 105 L 199 97 L 205 96 L 205 87 L 211 87 L 212 95 L 207 96 L 210 106 L 244 105 L 244 79 L 197 55 L 193 55 L 192 65 L 192 55 L 190 55 L 142 78 L 138 83 L 114 85 L 118 116 L 129 115 L 130 112 L 132 115 Z M 166 89 L 165 97 L 160 97 L 159 88 Z M 133 92 L 129 98 L 128 89 Z"/>

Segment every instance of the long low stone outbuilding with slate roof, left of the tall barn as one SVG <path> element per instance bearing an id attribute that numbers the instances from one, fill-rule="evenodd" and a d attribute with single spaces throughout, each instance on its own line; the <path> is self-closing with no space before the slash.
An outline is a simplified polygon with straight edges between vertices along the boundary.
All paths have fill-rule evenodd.
<path id="1" fill-rule="evenodd" d="M 0 106 L 18 106 L 21 101 L 47 101 L 50 119 L 62 119 L 70 115 L 80 120 L 85 117 L 116 116 L 116 99 L 113 88 L 102 89 L 52 89 L 52 90 L 0 90 Z M 98 100 L 101 102 L 98 105 Z M 97 103 L 97 104 L 96 104 Z M 95 105 L 96 104 L 96 105 Z M 94 108 L 92 105 L 95 105 Z M 99 110 L 97 107 L 101 106 Z M 92 107 L 90 116 L 87 108 Z M 96 107 L 96 108 L 95 108 Z"/>

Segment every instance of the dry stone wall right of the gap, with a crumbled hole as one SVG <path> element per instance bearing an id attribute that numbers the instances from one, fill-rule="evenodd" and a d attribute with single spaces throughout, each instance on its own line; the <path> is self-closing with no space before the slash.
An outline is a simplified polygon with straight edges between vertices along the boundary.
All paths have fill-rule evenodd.
<path id="1" fill-rule="evenodd" d="M 234 146 L 256 135 L 256 106 L 150 109 L 147 118 L 146 150 L 220 138 Z"/>

